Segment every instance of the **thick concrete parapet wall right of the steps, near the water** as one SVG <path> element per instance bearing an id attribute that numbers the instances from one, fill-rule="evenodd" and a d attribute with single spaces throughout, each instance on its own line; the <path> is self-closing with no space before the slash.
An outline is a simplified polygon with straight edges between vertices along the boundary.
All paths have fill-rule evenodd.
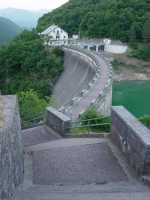
<path id="1" fill-rule="evenodd" d="M 111 110 L 110 137 L 137 176 L 150 175 L 150 131 L 122 106 Z"/>

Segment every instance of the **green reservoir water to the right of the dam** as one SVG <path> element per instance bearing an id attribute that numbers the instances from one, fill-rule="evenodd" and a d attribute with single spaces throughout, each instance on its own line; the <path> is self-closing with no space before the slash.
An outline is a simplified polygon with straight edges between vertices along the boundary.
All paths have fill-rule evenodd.
<path id="1" fill-rule="evenodd" d="M 150 82 L 114 82 L 112 105 L 122 105 L 135 117 L 150 115 Z"/>

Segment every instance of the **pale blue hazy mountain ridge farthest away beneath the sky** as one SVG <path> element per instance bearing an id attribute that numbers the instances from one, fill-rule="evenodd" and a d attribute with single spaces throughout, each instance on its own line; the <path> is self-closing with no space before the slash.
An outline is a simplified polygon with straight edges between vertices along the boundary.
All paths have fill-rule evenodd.
<path id="1" fill-rule="evenodd" d="M 0 16 L 12 20 L 20 27 L 35 28 L 39 17 L 49 10 L 29 11 L 16 8 L 0 9 Z"/>

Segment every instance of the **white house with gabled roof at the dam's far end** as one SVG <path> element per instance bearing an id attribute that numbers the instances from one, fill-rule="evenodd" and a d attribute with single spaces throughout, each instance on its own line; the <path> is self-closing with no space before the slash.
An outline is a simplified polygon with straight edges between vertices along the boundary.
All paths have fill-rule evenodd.
<path id="1" fill-rule="evenodd" d="M 68 44 L 68 33 L 54 24 L 40 33 L 40 35 L 44 36 L 44 44 L 47 45 Z"/>

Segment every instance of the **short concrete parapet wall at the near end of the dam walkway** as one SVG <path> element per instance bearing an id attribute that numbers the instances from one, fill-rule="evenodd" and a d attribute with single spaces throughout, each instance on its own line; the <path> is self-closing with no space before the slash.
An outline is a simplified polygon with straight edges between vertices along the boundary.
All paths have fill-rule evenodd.
<path id="1" fill-rule="evenodd" d="M 69 122 L 70 119 L 55 108 L 46 108 L 46 124 L 61 136 L 70 133 L 68 129 Z"/>

